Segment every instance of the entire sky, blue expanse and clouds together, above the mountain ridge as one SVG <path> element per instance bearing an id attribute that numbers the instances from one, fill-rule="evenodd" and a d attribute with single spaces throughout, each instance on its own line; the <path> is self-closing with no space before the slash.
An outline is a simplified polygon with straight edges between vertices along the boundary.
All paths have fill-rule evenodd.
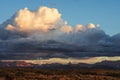
<path id="1" fill-rule="evenodd" d="M 0 59 L 120 60 L 119 7 L 120 0 L 1 0 L 0 51 L 6 55 Z"/>

